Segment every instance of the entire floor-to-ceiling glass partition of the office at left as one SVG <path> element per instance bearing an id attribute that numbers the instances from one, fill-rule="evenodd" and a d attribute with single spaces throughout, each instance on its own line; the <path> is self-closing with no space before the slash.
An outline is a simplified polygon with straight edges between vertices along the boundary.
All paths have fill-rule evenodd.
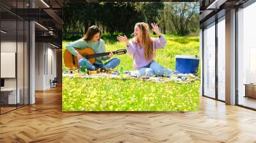
<path id="1" fill-rule="evenodd" d="M 3 114 L 29 103 L 29 22 L 13 14 L 29 8 L 29 1 L 0 1 L 0 4 L 6 8 L 0 8 Z"/>

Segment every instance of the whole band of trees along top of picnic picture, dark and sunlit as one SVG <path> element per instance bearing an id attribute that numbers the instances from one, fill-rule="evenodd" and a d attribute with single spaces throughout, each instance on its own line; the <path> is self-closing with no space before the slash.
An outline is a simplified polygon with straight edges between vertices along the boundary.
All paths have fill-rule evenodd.
<path id="1" fill-rule="evenodd" d="M 63 4 L 63 40 L 82 36 L 92 25 L 99 26 L 104 34 L 130 36 L 136 22 L 156 22 L 164 34 L 198 35 L 198 16 L 196 2 L 67 3 Z"/>

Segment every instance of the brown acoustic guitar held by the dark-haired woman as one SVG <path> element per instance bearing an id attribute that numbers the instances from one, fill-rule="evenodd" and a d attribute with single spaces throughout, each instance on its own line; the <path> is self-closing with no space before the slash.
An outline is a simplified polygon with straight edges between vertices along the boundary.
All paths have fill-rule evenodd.
<path id="1" fill-rule="evenodd" d="M 76 49 L 76 48 L 75 48 Z M 102 52 L 102 53 L 94 53 L 94 51 L 90 48 L 85 48 L 83 50 L 81 49 L 76 49 L 81 56 L 83 56 L 85 59 L 90 61 L 90 63 L 95 63 L 95 57 L 102 57 L 102 56 L 108 56 L 110 52 Z M 127 50 L 126 49 L 121 49 L 121 50 L 116 50 L 113 51 L 113 54 L 126 54 Z M 64 51 L 63 54 L 63 59 L 65 66 L 69 69 L 77 69 L 78 68 L 78 61 L 77 57 L 73 56 L 68 50 Z"/>

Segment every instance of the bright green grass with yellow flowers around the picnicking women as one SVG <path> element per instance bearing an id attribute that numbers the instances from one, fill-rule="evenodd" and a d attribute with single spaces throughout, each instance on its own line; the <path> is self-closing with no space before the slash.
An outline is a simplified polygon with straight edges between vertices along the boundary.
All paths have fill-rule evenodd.
<path id="1" fill-rule="evenodd" d="M 107 37 L 107 38 L 106 38 Z M 175 70 L 176 55 L 198 55 L 199 37 L 165 35 L 167 45 L 157 50 L 156 61 Z M 104 39 L 106 38 L 106 39 Z M 105 36 L 107 51 L 124 49 L 124 43 Z M 65 43 L 63 41 L 63 51 Z M 114 56 L 121 59 L 119 70 L 132 69 L 132 56 Z M 63 71 L 67 68 L 63 64 Z M 200 69 L 198 71 L 198 76 Z M 62 109 L 65 111 L 148 111 L 199 110 L 200 80 L 189 84 L 175 82 L 155 83 L 139 80 L 81 79 L 63 77 Z"/>

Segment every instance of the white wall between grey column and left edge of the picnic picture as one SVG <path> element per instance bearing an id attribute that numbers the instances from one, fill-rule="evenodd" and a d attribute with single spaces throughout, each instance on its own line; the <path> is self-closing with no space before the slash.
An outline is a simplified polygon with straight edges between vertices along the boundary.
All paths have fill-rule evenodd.
<path id="1" fill-rule="evenodd" d="M 49 43 L 36 43 L 36 90 L 45 90 L 51 88 L 50 79 L 53 80 L 54 77 L 56 77 L 56 49 L 53 48 L 54 47 L 52 47 L 52 45 Z"/>

